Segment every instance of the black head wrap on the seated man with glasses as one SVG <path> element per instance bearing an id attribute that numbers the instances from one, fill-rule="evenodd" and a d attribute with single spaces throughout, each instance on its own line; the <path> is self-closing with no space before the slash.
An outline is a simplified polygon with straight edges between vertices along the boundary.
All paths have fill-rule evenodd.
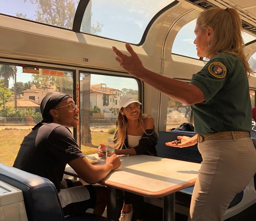
<path id="1" fill-rule="evenodd" d="M 48 95 L 46 95 L 40 104 L 40 110 L 43 120 L 35 125 L 32 130 L 39 128 L 40 126 L 42 126 L 43 123 L 52 122 L 53 118 L 50 114 L 50 110 L 55 108 L 62 100 L 65 100 L 69 97 L 71 96 L 63 93 L 49 93 Z"/>

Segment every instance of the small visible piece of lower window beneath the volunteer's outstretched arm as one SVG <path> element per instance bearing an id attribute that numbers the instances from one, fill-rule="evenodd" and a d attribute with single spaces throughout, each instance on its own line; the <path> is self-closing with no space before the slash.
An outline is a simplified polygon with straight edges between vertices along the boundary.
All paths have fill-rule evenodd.
<path id="1" fill-rule="evenodd" d="M 190 116 L 190 105 L 182 104 L 177 100 L 168 98 L 166 131 L 170 131 L 182 123 L 189 122 Z"/>

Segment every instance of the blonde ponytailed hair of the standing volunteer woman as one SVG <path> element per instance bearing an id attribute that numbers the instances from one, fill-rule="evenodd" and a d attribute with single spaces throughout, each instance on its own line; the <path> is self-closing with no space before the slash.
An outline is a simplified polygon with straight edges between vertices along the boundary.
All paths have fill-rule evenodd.
<path id="1" fill-rule="evenodd" d="M 236 11 L 232 8 L 214 8 L 200 13 L 197 18 L 197 25 L 201 29 L 213 28 L 213 35 L 210 45 L 206 49 L 206 57 L 209 55 L 218 55 L 219 53 L 228 53 L 241 58 L 247 77 L 252 73 L 246 57 L 245 44 L 242 38 L 242 22 Z"/>

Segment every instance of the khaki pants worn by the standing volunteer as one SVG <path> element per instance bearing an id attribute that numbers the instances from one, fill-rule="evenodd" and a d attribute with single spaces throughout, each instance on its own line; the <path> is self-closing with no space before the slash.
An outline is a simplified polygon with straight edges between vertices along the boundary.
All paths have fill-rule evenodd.
<path id="1" fill-rule="evenodd" d="M 234 196 L 256 173 L 256 150 L 251 138 L 203 141 L 191 199 L 189 221 L 221 221 Z"/>

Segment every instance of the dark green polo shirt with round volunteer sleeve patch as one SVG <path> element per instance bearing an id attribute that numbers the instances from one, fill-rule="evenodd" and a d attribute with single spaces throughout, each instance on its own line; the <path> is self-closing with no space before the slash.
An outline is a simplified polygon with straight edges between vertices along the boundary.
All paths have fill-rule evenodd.
<path id="1" fill-rule="evenodd" d="M 191 105 L 195 133 L 251 130 L 249 83 L 239 57 L 227 53 L 214 56 L 193 75 L 190 84 L 200 88 L 206 98 Z"/>

